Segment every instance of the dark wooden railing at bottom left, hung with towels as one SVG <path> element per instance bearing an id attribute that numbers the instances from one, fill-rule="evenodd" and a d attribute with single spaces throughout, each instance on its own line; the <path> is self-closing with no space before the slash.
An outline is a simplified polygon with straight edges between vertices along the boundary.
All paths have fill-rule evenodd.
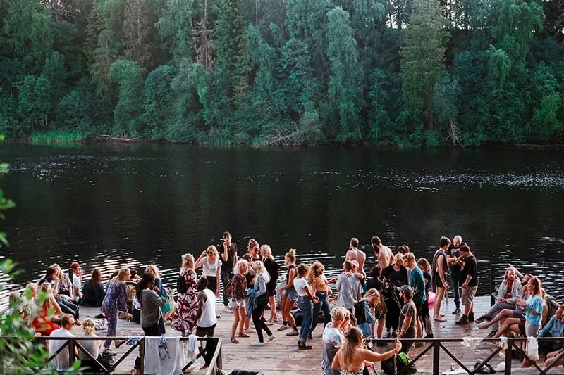
<path id="1" fill-rule="evenodd" d="M 104 337 L 104 336 L 97 336 L 97 337 L 50 337 L 50 336 L 39 336 L 36 338 L 37 340 L 40 341 L 65 341 L 65 343 L 63 343 L 63 345 L 61 345 L 61 347 L 53 354 L 51 355 L 49 358 L 47 358 L 47 360 L 44 363 L 43 367 L 40 368 L 35 368 L 35 369 L 30 369 L 30 371 L 32 371 L 33 374 L 39 373 L 44 367 L 47 367 L 47 365 L 54 360 L 54 358 L 59 355 L 60 352 L 62 352 L 63 350 L 68 350 L 68 359 L 69 359 L 69 367 L 71 367 L 74 362 L 76 362 L 78 359 L 76 357 L 76 352 L 77 350 L 79 352 L 82 352 L 86 355 L 86 357 L 88 357 L 90 360 L 92 360 L 98 367 L 99 367 L 99 371 L 96 371 L 97 374 L 99 374 L 100 372 L 102 372 L 103 374 L 111 374 L 113 371 L 116 370 L 116 368 L 121 364 L 121 362 L 123 362 L 123 360 L 125 360 L 125 358 L 127 358 L 129 355 L 131 355 L 131 353 L 136 349 L 139 348 L 138 350 L 138 356 L 140 358 L 139 361 L 139 371 L 141 374 L 144 374 L 145 371 L 145 337 L 140 336 L 139 341 L 137 341 L 135 344 L 131 345 L 131 348 L 129 348 L 125 353 L 123 353 L 122 355 L 118 354 L 118 358 L 116 359 L 116 361 L 114 362 L 114 364 L 112 364 L 110 367 L 106 367 L 104 366 L 104 364 L 102 364 L 101 362 L 99 362 L 99 360 L 97 358 L 94 358 L 90 352 L 88 352 L 82 345 L 80 345 L 79 341 L 105 341 L 106 339 L 109 340 L 126 340 L 126 337 Z M 13 336 L 0 336 L 0 340 L 18 340 L 18 338 L 15 338 Z M 181 337 L 180 341 L 188 341 L 189 338 L 188 337 Z M 222 368 L 222 361 L 221 361 L 221 338 L 216 338 L 216 337 L 198 337 L 197 341 L 201 343 L 206 343 L 206 347 L 203 348 L 202 350 L 200 350 L 200 352 L 198 353 L 196 359 L 199 359 L 200 357 L 202 357 L 203 355 L 205 355 L 207 353 L 207 350 L 209 350 L 209 348 L 213 347 L 215 344 L 215 350 L 214 350 L 214 355 L 212 357 L 212 361 L 209 364 L 209 367 L 206 371 L 206 375 L 216 375 L 216 374 L 220 374 L 221 368 Z M 202 348 L 202 345 L 200 345 L 200 348 Z M 135 354 L 137 355 L 137 354 Z M 190 366 L 192 366 L 192 364 L 194 364 L 194 362 L 188 362 L 188 364 L 185 364 L 185 366 L 183 367 L 182 371 L 186 371 L 188 368 L 190 368 Z"/>

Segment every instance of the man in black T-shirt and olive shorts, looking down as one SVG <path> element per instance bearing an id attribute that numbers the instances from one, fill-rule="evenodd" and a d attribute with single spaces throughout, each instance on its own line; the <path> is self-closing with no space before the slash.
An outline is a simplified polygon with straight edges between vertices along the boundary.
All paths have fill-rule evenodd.
<path id="1" fill-rule="evenodd" d="M 464 314 L 456 324 L 468 324 L 474 322 L 474 296 L 478 289 L 478 261 L 467 245 L 460 246 L 460 260 L 458 264 L 462 265 L 462 306 L 464 306 Z"/>

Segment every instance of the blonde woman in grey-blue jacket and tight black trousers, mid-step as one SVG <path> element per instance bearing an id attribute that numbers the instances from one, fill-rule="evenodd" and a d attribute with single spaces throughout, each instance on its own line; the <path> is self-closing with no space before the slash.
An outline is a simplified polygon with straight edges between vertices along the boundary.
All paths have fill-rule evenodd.
<path id="1" fill-rule="evenodd" d="M 255 293 L 252 295 L 253 301 L 251 304 L 255 304 L 252 308 L 252 322 L 255 324 L 255 329 L 257 330 L 258 341 L 252 343 L 252 346 L 264 345 L 264 338 L 262 336 L 262 330 L 266 332 L 269 336 L 268 342 L 271 342 L 276 338 L 269 327 L 266 326 L 264 317 L 262 317 L 262 312 L 264 312 L 264 307 L 269 303 L 268 292 L 266 291 L 266 284 L 270 281 L 269 272 L 266 271 L 264 264 L 257 260 L 252 262 L 252 269 L 255 271 Z"/>

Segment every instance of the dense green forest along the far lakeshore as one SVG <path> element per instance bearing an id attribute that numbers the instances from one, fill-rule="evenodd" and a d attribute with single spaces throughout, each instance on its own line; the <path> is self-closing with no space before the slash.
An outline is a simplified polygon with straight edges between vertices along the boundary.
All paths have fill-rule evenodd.
<path id="1" fill-rule="evenodd" d="M 564 0 L 0 0 L 0 133 L 561 144 Z"/>

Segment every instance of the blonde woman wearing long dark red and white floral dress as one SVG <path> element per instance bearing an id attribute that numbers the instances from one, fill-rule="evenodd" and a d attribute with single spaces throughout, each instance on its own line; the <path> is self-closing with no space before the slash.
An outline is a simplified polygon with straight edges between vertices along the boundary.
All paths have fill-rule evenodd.
<path id="1" fill-rule="evenodd" d="M 176 309 L 172 315 L 172 328 L 190 336 L 198 320 L 198 300 L 196 298 L 196 272 L 194 256 L 182 255 L 182 268 L 176 282 Z"/>

